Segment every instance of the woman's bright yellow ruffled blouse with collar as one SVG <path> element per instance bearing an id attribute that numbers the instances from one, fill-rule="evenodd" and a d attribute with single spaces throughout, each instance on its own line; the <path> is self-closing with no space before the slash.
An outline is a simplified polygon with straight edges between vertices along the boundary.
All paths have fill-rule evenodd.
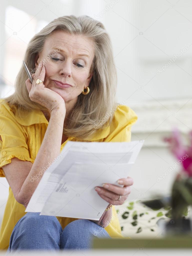
<path id="1" fill-rule="evenodd" d="M 114 111 L 111 125 L 100 129 L 92 140 L 89 141 L 129 142 L 131 140 L 131 126 L 137 121 L 138 117 L 128 106 L 118 106 L 119 108 L 116 108 Z M 21 119 L 17 115 L 17 108 L 15 106 L 9 106 L 4 99 L 0 99 L 0 135 L 2 137 L 2 141 L 0 140 L 0 177 L 5 177 L 1 167 L 11 163 L 13 157 L 34 163 L 47 126 L 48 121 L 41 110 L 35 110 L 30 113 L 24 112 L 24 116 Z M 69 137 L 61 145 L 61 150 L 69 140 L 76 141 L 74 137 Z M 15 200 L 12 189 L 9 186 L 9 196 L 0 229 L 0 250 L 8 249 L 13 228 L 17 221 L 25 214 L 25 207 Z M 105 228 L 112 238 L 123 237 L 116 214 L 117 211 L 115 206 L 113 206 L 111 222 Z M 68 217 L 57 217 L 57 219 L 63 229 L 67 224 L 76 220 L 75 218 Z"/>

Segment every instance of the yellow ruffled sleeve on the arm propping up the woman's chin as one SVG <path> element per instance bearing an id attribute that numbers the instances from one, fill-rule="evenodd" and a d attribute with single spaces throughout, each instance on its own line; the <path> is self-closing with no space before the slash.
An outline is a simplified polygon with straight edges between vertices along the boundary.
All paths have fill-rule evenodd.
<path id="1" fill-rule="evenodd" d="M 22 161 L 33 160 L 29 156 L 26 135 L 15 115 L 5 100 L 0 100 L 0 177 L 5 177 L 3 167 L 17 157 Z"/>

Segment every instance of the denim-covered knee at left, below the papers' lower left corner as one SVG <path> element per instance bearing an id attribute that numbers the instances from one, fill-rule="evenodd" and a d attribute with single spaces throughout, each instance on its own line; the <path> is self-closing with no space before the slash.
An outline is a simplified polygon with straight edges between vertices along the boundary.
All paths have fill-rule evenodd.
<path id="1" fill-rule="evenodd" d="M 54 216 L 27 212 L 15 225 L 9 248 L 59 248 L 62 227 Z"/>

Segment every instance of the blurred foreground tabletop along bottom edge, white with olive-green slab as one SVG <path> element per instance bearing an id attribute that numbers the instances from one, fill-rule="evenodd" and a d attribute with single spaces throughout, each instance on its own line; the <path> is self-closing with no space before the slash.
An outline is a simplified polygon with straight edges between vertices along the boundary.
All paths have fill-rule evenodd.
<path id="1" fill-rule="evenodd" d="M 93 249 L 90 250 L 62 250 L 62 251 L 15 251 L 13 254 L 18 256 L 27 255 L 111 255 L 111 256 L 137 256 L 137 255 L 191 255 L 192 239 L 190 234 L 184 236 L 167 236 L 161 239 L 128 239 L 128 238 L 94 238 Z M 1 255 L 9 255 L 6 251 L 0 252 Z M 12 254 L 12 253 L 11 253 Z"/>

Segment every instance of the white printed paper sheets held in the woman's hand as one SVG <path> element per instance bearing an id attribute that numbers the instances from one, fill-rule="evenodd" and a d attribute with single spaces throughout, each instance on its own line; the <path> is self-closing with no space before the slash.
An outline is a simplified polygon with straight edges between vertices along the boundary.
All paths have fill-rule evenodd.
<path id="1" fill-rule="evenodd" d="M 95 187 L 123 187 L 117 180 L 129 176 L 143 142 L 68 141 L 50 168 L 36 175 L 41 180 L 25 212 L 99 220 L 109 203 Z"/>

